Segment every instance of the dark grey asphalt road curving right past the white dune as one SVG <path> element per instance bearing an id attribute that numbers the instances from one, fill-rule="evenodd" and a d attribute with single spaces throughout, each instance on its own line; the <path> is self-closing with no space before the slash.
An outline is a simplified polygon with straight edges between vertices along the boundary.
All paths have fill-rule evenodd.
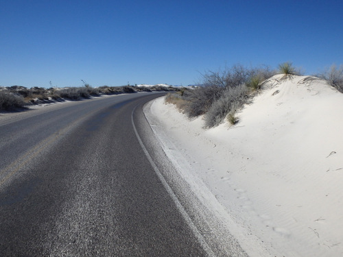
<path id="1" fill-rule="evenodd" d="M 136 119 L 158 96 L 0 119 L 0 256 L 212 254 L 142 147 Z"/>

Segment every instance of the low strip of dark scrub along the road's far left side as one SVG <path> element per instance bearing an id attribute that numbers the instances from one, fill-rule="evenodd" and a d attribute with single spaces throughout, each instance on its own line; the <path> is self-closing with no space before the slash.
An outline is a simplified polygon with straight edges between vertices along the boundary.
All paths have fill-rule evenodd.
<path id="1" fill-rule="evenodd" d="M 25 86 L 0 87 L 0 111 L 19 110 L 39 103 L 54 101 L 90 99 L 100 95 L 119 95 L 125 93 L 178 91 L 172 86 L 100 86 L 93 88 L 89 84 L 70 88 L 26 88 Z"/>

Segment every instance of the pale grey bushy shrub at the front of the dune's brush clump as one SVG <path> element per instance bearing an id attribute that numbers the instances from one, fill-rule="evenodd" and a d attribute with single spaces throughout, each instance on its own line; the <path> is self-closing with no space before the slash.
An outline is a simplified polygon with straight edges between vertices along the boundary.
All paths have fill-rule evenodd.
<path id="1" fill-rule="evenodd" d="M 204 115 L 205 127 L 219 125 L 230 112 L 236 112 L 248 99 L 248 88 L 241 84 L 233 88 L 226 88 L 222 96 L 214 101 L 211 108 Z"/>

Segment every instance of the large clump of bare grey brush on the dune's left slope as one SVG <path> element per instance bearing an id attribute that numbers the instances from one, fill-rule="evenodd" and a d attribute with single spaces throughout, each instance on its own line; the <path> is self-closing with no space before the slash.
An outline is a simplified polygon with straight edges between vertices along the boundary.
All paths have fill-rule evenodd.
<path id="1" fill-rule="evenodd" d="M 248 87 L 257 90 L 263 80 L 274 74 L 269 67 L 247 69 L 241 65 L 209 71 L 203 75 L 202 86 L 183 94 L 184 111 L 189 118 L 204 114 L 205 127 L 214 127 L 246 103 L 251 96 Z"/>

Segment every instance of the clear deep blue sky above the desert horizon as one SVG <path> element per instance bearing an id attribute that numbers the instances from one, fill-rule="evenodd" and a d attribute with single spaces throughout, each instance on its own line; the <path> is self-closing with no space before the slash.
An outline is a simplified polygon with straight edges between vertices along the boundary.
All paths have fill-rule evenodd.
<path id="1" fill-rule="evenodd" d="M 0 0 L 1 86 L 186 86 L 285 61 L 343 63 L 342 0 Z"/>

